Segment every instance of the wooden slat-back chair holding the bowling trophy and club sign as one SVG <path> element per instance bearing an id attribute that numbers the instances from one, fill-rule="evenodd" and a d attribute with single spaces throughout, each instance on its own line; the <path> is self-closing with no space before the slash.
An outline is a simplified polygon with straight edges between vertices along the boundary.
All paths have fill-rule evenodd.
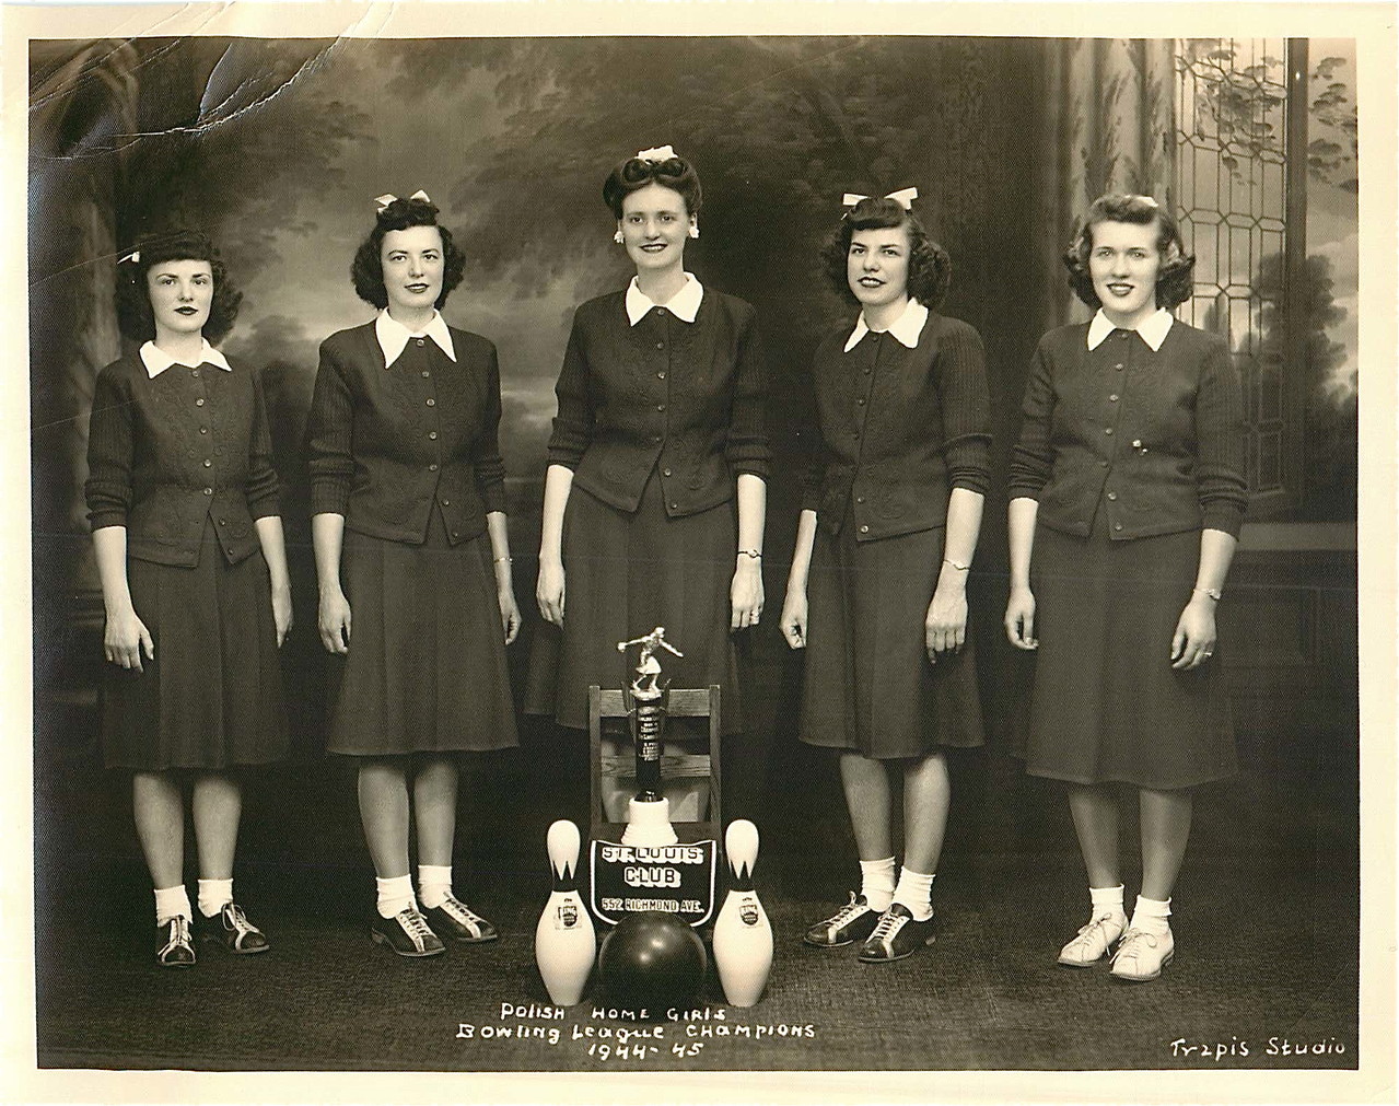
<path id="1" fill-rule="evenodd" d="M 630 690 L 603 690 L 597 685 L 588 689 L 588 745 L 590 767 L 592 836 L 606 841 L 620 841 L 625 822 L 610 822 L 603 806 L 603 778 L 635 776 L 635 757 L 628 749 L 621 756 L 603 756 L 603 718 L 625 718 L 630 710 Z M 672 718 L 708 718 L 709 752 L 679 753 L 660 757 L 660 778 L 706 776 L 709 778 L 709 815 L 702 822 L 673 822 L 681 841 L 720 841 L 723 820 L 719 816 L 719 687 L 673 687 L 669 715 Z M 722 841 L 720 841 L 722 847 Z"/>

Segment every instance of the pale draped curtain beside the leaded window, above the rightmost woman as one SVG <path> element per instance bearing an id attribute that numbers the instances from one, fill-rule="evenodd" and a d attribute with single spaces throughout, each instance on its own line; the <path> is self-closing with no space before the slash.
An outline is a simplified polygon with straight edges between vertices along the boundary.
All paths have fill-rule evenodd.
<path id="1" fill-rule="evenodd" d="M 1045 328 L 1080 318 L 1060 256 L 1097 196 L 1142 192 L 1174 203 L 1174 39 L 1044 43 L 1032 181 Z"/>

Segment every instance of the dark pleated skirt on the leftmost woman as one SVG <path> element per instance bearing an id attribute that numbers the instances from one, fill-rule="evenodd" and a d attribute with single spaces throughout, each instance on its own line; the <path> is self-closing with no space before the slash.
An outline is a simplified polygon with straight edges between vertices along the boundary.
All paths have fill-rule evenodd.
<path id="1" fill-rule="evenodd" d="M 104 665 L 106 766 L 225 769 L 285 757 L 277 627 L 262 552 L 228 564 L 206 519 L 193 568 L 133 557 L 126 577 L 155 657 L 141 658 L 143 672 Z"/>

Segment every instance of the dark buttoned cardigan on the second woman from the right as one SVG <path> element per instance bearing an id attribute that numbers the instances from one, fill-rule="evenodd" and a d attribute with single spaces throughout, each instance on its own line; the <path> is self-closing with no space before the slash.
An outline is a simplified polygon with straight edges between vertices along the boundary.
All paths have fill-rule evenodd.
<path id="1" fill-rule="evenodd" d="M 942 526 L 951 489 L 990 484 L 981 336 L 932 311 L 914 349 L 870 330 L 845 353 L 849 335 L 832 333 L 813 360 L 823 448 L 802 507 L 830 533 L 849 511 L 862 542 Z"/>

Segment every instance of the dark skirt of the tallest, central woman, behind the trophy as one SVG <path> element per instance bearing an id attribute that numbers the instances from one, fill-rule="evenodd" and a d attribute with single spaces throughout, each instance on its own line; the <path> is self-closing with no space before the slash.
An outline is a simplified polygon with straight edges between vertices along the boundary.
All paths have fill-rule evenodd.
<path id="1" fill-rule="evenodd" d="M 656 652 L 672 687 L 720 687 L 725 732 L 741 729 L 739 676 L 729 631 L 729 585 L 737 550 L 733 503 L 670 518 L 652 473 L 628 514 L 575 487 L 564 512 L 564 626 L 543 624 L 530 652 L 525 710 L 588 728 L 588 686 L 623 687 L 637 650 L 618 641 L 666 627 L 676 657 Z"/>

